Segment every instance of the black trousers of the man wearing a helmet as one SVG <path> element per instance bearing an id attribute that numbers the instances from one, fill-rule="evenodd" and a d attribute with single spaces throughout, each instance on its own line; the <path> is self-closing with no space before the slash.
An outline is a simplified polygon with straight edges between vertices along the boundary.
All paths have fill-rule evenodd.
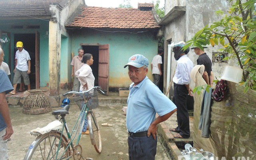
<path id="1" fill-rule="evenodd" d="M 177 122 L 178 127 L 175 128 L 180 135 L 184 138 L 190 137 L 189 129 L 189 117 L 186 97 L 188 95 L 188 90 L 185 85 L 174 83 L 174 98 L 175 105 L 177 106 Z"/>

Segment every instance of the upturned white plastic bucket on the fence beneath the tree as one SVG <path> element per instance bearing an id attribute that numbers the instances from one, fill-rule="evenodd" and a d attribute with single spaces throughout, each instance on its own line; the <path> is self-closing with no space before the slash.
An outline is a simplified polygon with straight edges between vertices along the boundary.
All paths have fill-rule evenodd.
<path id="1" fill-rule="evenodd" d="M 239 67 L 226 66 L 220 79 L 239 83 L 242 80 L 243 70 Z"/>

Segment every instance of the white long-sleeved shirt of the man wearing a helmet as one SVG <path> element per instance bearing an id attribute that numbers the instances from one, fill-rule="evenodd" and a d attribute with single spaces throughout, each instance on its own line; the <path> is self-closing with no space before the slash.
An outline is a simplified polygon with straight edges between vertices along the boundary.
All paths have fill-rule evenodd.
<path id="1" fill-rule="evenodd" d="M 177 60 L 175 75 L 172 79 L 173 82 L 181 85 L 190 84 L 190 72 L 193 67 L 193 62 L 186 54 L 181 56 L 180 59 Z"/>

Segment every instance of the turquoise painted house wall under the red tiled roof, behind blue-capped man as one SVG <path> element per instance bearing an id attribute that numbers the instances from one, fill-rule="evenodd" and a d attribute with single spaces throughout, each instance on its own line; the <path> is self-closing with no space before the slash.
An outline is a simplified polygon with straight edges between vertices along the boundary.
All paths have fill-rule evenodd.
<path id="1" fill-rule="evenodd" d="M 148 58 L 149 64 L 151 64 L 151 60 L 158 50 L 158 41 L 154 40 L 152 32 L 131 34 L 128 32 L 101 32 L 92 29 L 75 30 L 72 38 L 72 52 L 76 53 L 77 48 L 81 48 L 80 44 L 110 45 L 109 87 L 118 88 L 128 87 L 131 84 L 128 68 L 124 68 L 130 56 L 142 54 Z M 153 80 L 150 65 L 148 69 L 148 77 Z"/>

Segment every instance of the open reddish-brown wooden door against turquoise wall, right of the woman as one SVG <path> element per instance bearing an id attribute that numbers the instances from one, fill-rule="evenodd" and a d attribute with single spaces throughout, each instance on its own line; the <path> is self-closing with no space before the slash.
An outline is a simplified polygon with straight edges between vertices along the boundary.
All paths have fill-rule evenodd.
<path id="1" fill-rule="evenodd" d="M 109 44 L 99 46 L 99 86 L 106 91 L 108 95 L 109 80 Z"/>

